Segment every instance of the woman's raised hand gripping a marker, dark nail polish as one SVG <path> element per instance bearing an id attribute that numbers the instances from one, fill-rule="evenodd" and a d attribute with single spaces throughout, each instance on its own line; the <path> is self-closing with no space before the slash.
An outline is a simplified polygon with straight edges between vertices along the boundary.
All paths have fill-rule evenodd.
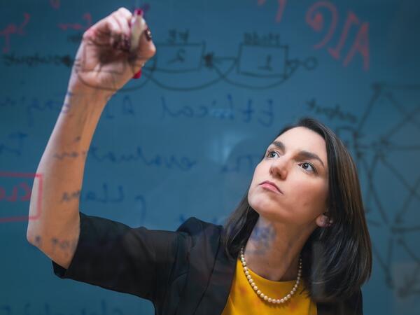
<path id="1" fill-rule="evenodd" d="M 71 71 L 71 92 L 95 89 L 113 94 L 155 55 L 155 45 L 145 32 L 137 48 L 131 49 L 132 18 L 127 8 L 119 8 L 85 31 Z"/>

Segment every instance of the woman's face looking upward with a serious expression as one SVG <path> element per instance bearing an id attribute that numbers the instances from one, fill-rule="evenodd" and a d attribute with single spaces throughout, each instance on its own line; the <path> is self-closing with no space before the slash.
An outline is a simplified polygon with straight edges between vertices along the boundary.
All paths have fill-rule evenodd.
<path id="1" fill-rule="evenodd" d="M 318 224 L 316 218 L 327 210 L 327 197 L 325 140 L 305 127 L 290 129 L 273 141 L 255 167 L 248 192 L 248 202 L 260 216 L 294 225 Z"/>

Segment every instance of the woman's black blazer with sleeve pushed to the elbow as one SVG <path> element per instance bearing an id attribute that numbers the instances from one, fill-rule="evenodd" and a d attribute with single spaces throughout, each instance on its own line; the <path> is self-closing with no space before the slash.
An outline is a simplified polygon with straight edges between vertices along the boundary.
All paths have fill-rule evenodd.
<path id="1" fill-rule="evenodd" d="M 172 232 L 80 213 L 80 237 L 69 268 L 52 266 L 60 278 L 150 300 L 155 314 L 221 314 L 236 268 L 221 246 L 221 231 L 221 225 L 194 217 Z M 316 305 L 318 315 L 363 314 L 361 290 L 344 302 Z"/>

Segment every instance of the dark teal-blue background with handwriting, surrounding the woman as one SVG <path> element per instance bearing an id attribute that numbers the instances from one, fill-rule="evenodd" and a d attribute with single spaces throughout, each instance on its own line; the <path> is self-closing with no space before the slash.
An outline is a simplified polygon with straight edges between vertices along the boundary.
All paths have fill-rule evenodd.
<path id="1" fill-rule="evenodd" d="M 419 1 L 140 4 L 157 54 L 103 113 L 80 209 L 151 229 L 175 230 L 190 216 L 222 224 L 281 127 L 314 116 L 358 165 L 374 252 L 365 314 L 420 314 Z M 138 297 L 58 279 L 26 240 L 25 187 L 80 36 L 90 19 L 135 5 L 0 3 L 0 315 L 153 314 Z M 346 61 L 358 36 L 368 56 L 356 50 Z"/>

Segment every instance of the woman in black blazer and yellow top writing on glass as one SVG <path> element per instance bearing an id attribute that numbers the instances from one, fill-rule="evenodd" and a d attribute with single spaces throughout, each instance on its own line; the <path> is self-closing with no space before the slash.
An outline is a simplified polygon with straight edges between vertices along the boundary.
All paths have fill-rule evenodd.
<path id="1" fill-rule="evenodd" d="M 83 35 L 38 166 L 43 207 L 28 241 L 58 276 L 151 300 L 155 314 L 363 314 L 372 253 L 356 167 L 316 120 L 280 132 L 223 227 L 189 218 L 175 232 L 148 230 L 79 211 L 104 106 L 155 54 L 150 31 L 132 38 L 139 21 L 120 8 Z M 32 191 L 30 216 L 37 181 Z"/>

